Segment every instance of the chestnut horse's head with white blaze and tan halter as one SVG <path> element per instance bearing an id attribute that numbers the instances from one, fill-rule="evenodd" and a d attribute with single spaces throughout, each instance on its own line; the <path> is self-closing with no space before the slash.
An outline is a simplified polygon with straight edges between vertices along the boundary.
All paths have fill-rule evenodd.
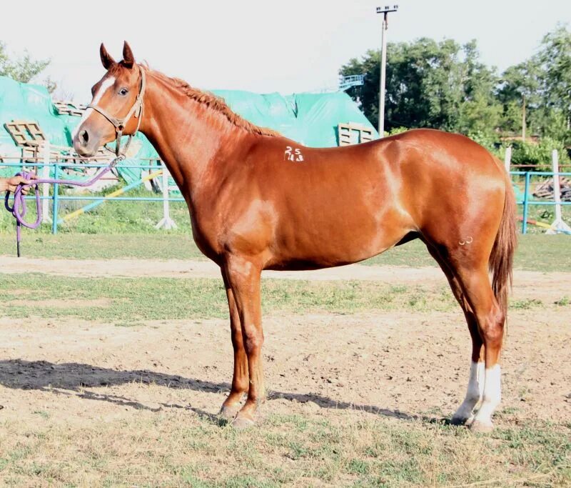
<path id="1" fill-rule="evenodd" d="M 99 54 L 107 72 L 91 89 L 93 99 L 74 133 L 74 149 L 81 156 L 93 156 L 113 140 L 119 144 L 121 135 L 135 134 L 141 123 L 145 74 L 133 51 L 125 42 L 118 63 L 103 44 Z"/>

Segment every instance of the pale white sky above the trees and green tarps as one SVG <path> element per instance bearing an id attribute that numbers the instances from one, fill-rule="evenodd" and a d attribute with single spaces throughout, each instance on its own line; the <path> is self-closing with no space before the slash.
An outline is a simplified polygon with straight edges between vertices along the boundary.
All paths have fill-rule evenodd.
<path id="1" fill-rule="evenodd" d="M 378 49 L 375 7 L 388 4 L 399 6 L 388 41 L 476 39 L 482 61 L 500 71 L 531 56 L 558 23 L 571 27 L 570 0 L 28 0 L 26 19 L 17 2 L 4 5 L 0 41 L 51 59 L 40 79 L 80 102 L 104 74 L 99 44 L 119 60 L 123 39 L 138 61 L 201 89 L 290 94 L 333 88 L 340 66 Z"/>

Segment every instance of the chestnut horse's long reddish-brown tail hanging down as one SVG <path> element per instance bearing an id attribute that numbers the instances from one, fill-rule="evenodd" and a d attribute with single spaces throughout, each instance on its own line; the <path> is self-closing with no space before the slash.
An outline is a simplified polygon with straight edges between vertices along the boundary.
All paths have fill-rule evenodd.
<path id="1" fill-rule="evenodd" d="M 502 168 L 501 162 L 500 168 Z M 500 221 L 500 228 L 497 229 L 488 263 L 492 273 L 492 289 L 504 317 L 507 317 L 507 294 L 512 285 L 513 255 L 517 246 L 515 210 L 512 182 L 510 175 L 505 172 L 505 200 L 502 220 Z"/>

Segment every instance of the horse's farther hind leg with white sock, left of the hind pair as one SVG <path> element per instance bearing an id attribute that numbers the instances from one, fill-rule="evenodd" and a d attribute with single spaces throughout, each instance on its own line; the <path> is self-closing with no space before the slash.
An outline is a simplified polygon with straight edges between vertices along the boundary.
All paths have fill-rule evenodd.
<path id="1" fill-rule="evenodd" d="M 465 294 L 458 282 L 458 278 L 450 268 L 450 264 L 443 259 L 438 253 L 438 250 L 430 244 L 426 244 L 428 252 L 440 264 L 454 297 L 462 307 L 466 322 L 468 323 L 468 330 L 470 330 L 470 337 L 472 338 L 472 357 L 470 362 L 470 379 L 468 380 L 468 389 L 464 401 L 458 407 L 455 414 L 450 419 L 452 424 L 466 424 L 472 422 L 474 418 L 474 409 L 478 402 L 482 399 L 484 392 L 484 355 L 483 355 L 483 342 L 480 336 L 480 331 L 477 327 L 476 316 L 466 300 Z"/>

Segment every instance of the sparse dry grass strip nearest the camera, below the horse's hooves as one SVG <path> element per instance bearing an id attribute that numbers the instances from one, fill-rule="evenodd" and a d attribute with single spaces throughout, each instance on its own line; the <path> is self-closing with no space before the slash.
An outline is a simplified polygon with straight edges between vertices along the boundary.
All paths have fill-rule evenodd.
<path id="1" fill-rule="evenodd" d="M 482 436 L 434 422 L 356 417 L 270 414 L 245 432 L 168 411 L 81 427 L 4 422 L 0 481 L 236 488 L 571 483 L 571 424 L 536 422 Z"/>

